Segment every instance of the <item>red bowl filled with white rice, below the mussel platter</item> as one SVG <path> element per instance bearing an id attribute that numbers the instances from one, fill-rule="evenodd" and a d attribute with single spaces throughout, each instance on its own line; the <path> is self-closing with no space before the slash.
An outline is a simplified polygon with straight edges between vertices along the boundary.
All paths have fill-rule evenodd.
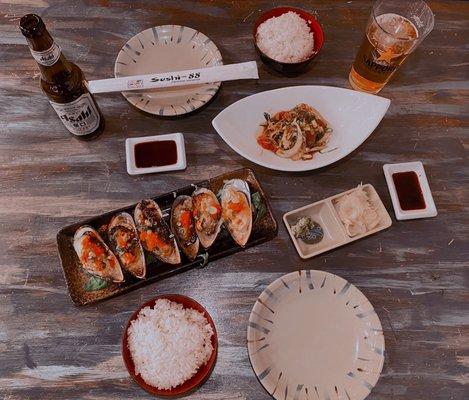
<path id="1" fill-rule="evenodd" d="M 181 396 L 210 375 L 217 355 L 213 320 L 195 300 L 155 297 L 135 311 L 124 331 L 122 356 L 131 377 L 157 396 Z"/>

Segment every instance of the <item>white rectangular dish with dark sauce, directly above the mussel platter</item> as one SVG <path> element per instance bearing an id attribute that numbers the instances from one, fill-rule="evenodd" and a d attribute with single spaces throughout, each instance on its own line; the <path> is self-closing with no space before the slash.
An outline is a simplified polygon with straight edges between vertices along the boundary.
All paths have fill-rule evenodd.
<path id="1" fill-rule="evenodd" d="M 177 171 L 187 166 L 182 133 L 129 138 L 125 155 L 129 175 Z"/>

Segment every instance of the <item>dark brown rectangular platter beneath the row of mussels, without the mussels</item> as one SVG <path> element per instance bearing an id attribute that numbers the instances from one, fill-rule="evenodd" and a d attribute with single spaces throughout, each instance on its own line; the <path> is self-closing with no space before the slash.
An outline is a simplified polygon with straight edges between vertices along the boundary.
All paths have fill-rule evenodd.
<path id="1" fill-rule="evenodd" d="M 174 192 L 156 196 L 153 200 L 155 200 L 160 206 L 163 214 L 165 215 L 165 220 L 169 225 L 169 212 L 176 196 L 181 194 L 191 195 L 196 186 L 209 188 L 217 194 L 223 187 L 224 181 L 235 178 L 243 179 L 249 184 L 251 195 L 259 193 L 256 197 L 258 199 L 258 203 L 263 205 L 259 207 L 259 209 L 262 208 L 262 213 L 257 212 L 253 215 L 252 232 L 245 248 L 273 239 L 277 235 L 277 222 L 272 214 L 269 202 L 259 181 L 254 175 L 254 172 L 248 168 L 219 175 L 209 180 L 175 190 Z M 145 258 L 147 260 L 147 274 L 144 279 L 138 279 L 130 276 L 129 274 L 125 274 L 125 281 L 122 283 L 109 283 L 102 289 L 90 291 L 88 288 L 87 290 L 86 285 L 90 281 L 90 275 L 81 267 L 78 256 L 75 253 L 73 248 L 73 235 L 82 225 L 90 225 L 98 230 L 101 226 L 108 224 L 112 216 L 119 212 L 126 211 L 133 215 L 134 208 L 135 204 L 101 214 L 84 221 L 79 221 L 73 225 L 62 228 L 57 234 L 57 244 L 60 260 L 62 262 L 62 269 L 70 297 L 75 304 L 85 305 L 95 303 L 188 269 L 203 267 L 212 260 L 225 257 L 244 249 L 233 241 L 226 229 L 222 229 L 215 243 L 208 250 L 201 248 L 197 258 L 192 262 L 183 257 L 181 264 L 164 264 L 161 261 L 156 260 L 156 258 L 148 252 L 145 252 Z"/>

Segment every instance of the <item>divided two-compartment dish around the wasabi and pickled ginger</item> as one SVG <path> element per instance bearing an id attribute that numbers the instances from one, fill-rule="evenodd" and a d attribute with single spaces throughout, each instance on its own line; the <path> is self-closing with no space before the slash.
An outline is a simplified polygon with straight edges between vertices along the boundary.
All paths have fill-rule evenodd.
<path id="1" fill-rule="evenodd" d="M 366 184 L 363 185 L 363 190 L 367 194 L 371 205 L 377 211 L 380 217 L 379 224 L 366 233 L 349 236 L 345 230 L 344 224 L 337 214 L 335 204 L 340 197 L 351 193 L 354 190 L 357 190 L 357 188 L 353 188 L 347 190 L 346 192 L 328 197 L 327 199 L 308 204 L 301 208 L 297 208 L 296 210 L 289 211 L 283 215 L 283 222 L 285 223 L 287 231 L 290 234 L 293 244 L 295 245 L 296 251 L 301 258 L 306 259 L 317 256 L 326 251 L 335 249 L 336 247 L 340 247 L 346 243 L 350 243 L 365 236 L 382 231 L 383 229 L 389 228 L 392 225 L 391 217 L 384 207 L 384 204 L 375 188 L 370 184 Z M 307 244 L 304 243 L 301 239 L 297 239 L 295 237 L 291 226 L 294 225 L 298 218 L 301 217 L 311 217 L 313 221 L 321 225 L 324 232 L 324 238 L 319 243 Z"/>

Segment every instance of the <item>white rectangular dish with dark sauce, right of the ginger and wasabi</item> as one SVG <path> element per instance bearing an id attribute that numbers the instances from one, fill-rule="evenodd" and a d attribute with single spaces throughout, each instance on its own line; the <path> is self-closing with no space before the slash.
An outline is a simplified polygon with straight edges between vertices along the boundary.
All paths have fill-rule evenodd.
<path id="1" fill-rule="evenodd" d="M 420 161 L 385 164 L 383 171 L 398 220 L 437 216 L 427 175 Z"/>

